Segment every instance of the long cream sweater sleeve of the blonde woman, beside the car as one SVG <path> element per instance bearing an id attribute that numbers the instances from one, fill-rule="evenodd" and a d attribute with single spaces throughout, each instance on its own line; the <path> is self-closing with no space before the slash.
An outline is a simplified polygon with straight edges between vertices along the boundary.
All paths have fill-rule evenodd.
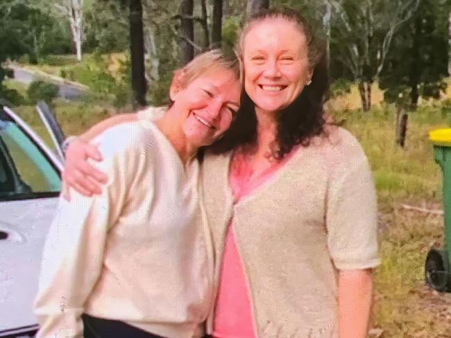
<path id="1" fill-rule="evenodd" d="M 40 324 L 37 337 L 83 337 L 80 316 L 101 273 L 108 229 L 119 217 L 126 191 L 118 163 L 124 154 L 109 141 L 114 140 L 101 139 L 103 161 L 93 163 L 108 175 L 101 195 L 85 197 L 71 191 L 70 202 L 60 197 L 44 245 L 34 305 Z"/>

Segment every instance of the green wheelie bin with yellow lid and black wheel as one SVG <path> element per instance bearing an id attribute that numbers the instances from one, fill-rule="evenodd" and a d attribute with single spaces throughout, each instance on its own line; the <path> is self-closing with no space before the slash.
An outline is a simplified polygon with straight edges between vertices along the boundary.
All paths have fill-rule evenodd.
<path id="1" fill-rule="evenodd" d="M 451 128 L 429 132 L 429 140 L 434 145 L 434 160 L 443 172 L 445 241 L 443 249 L 432 248 L 427 253 L 425 278 L 434 290 L 451 292 Z"/>

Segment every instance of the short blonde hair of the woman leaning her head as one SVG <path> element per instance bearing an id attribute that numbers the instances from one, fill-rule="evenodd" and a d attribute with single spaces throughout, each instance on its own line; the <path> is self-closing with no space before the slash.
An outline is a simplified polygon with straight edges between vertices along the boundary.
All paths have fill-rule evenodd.
<path id="1" fill-rule="evenodd" d="M 226 69 L 232 71 L 235 79 L 239 81 L 241 87 L 241 66 L 236 55 L 228 56 L 220 49 L 212 49 L 205 53 L 199 54 L 193 60 L 188 62 L 182 69 L 180 85 L 186 88 L 191 82 L 199 76 L 216 71 L 218 69 Z"/>

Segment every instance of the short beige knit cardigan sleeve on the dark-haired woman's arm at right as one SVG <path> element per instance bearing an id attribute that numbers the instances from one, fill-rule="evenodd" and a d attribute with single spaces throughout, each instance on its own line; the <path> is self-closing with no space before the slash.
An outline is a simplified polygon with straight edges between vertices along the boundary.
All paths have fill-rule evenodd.
<path id="1" fill-rule="evenodd" d="M 351 136 L 352 137 L 352 136 Z M 353 137 L 339 150 L 327 194 L 327 244 L 337 269 L 375 267 L 377 203 L 366 156 Z"/>

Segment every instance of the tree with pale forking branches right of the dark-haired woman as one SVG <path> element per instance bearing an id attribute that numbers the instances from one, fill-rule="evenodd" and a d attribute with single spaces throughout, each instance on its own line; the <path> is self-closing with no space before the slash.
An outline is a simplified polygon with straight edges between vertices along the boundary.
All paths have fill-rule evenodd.
<path id="1" fill-rule="evenodd" d="M 393 36 L 420 0 L 325 0 L 332 6 L 331 61 L 335 74 L 358 83 L 364 111 L 371 107 L 371 84 L 386 64 Z"/>

